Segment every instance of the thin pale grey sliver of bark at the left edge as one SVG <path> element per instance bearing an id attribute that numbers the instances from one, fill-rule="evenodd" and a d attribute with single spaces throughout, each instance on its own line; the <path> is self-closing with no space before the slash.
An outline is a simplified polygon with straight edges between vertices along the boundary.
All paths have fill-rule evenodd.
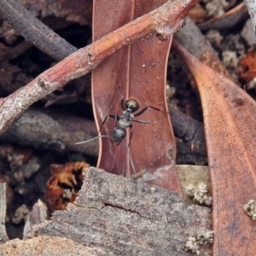
<path id="1" fill-rule="evenodd" d="M 6 214 L 6 183 L 0 183 L 0 244 L 8 241 L 5 230 L 5 214 Z M 1 254 L 2 255 L 2 254 Z"/>

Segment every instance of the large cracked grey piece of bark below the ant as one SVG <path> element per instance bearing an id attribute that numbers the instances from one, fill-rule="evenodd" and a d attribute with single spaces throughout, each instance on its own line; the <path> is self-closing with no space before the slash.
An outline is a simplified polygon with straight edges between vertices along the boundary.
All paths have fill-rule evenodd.
<path id="1" fill-rule="evenodd" d="M 193 255 L 183 246 L 189 236 L 211 226 L 207 207 L 187 205 L 166 189 L 90 167 L 74 204 L 54 212 L 32 236 L 71 238 L 102 255 Z M 211 248 L 201 249 L 210 255 Z"/>

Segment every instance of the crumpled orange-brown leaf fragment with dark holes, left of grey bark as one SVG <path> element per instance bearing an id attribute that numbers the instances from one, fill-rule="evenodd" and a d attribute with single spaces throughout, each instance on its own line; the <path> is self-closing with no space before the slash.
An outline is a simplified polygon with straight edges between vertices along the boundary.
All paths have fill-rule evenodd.
<path id="1" fill-rule="evenodd" d="M 66 165 L 51 165 L 52 176 L 49 177 L 45 199 L 50 210 L 63 210 L 67 203 L 73 202 L 83 181 L 85 162 L 71 162 Z"/>

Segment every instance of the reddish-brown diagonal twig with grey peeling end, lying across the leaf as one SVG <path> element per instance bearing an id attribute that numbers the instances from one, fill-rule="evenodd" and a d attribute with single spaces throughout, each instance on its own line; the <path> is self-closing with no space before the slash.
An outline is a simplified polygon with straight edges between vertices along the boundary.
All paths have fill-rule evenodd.
<path id="1" fill-rule="evenodd" d="M 116 50 L 151 32 L 156 32 L 160 38 L 171 37 L 177 29 L 183 26 L 185 16 L 196 3 L 199 3 L 199 0 L 189 0 L 187 3 L 183 1 L 173 3 L 172 0 L 169 0 L 159 9 L 155 9 L 148 15 L 143 15 L 95 43 L 79 49 L 54 67 L 41 73 L 31 83 L 2 100 L 0 133 L 2 134 L 9 124 L 32 103 L 44 98 L 54 90 L 60 89 L 67 82 L 89 73 Z"/>

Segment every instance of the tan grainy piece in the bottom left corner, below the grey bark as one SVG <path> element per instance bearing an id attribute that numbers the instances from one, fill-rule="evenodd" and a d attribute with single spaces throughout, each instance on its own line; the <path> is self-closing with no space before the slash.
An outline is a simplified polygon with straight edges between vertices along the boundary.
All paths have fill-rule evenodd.
<path id="1" fill-rule="evenodd" d="M 96 256 L 96 250 L 62 237 L 38 236 L 22 241 L 14 239 L 0 245 L 1 256 Z"/>

